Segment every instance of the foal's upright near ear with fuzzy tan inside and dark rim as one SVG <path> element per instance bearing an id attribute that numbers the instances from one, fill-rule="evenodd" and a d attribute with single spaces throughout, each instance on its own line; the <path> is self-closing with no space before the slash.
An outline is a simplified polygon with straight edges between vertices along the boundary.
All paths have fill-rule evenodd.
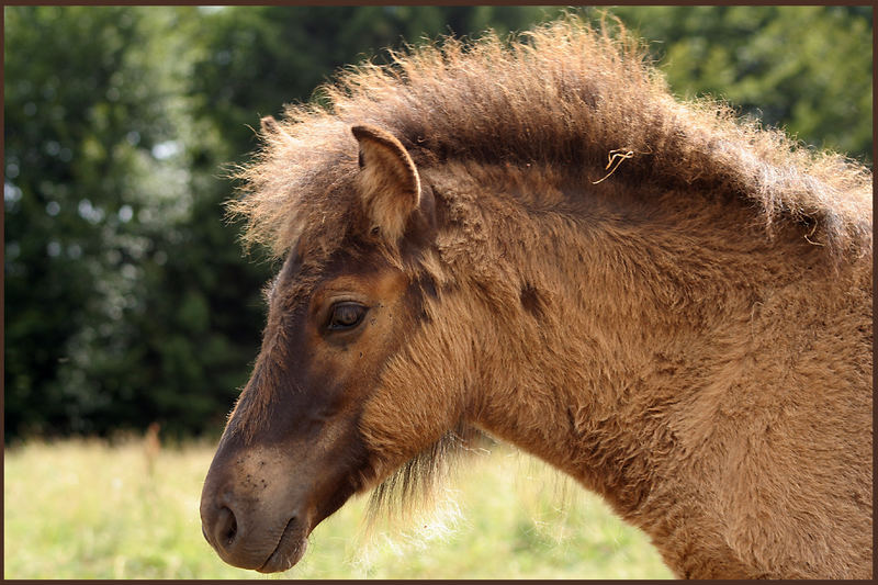
<path id="1" fill-rule="evenodd" d="M 372 223 L 395 244 L 421 203 L 418 170 L 392 134 L 368 125 L 353 126 L 351 132 L 360 144 L 358 180 L 363 206 Z"/>

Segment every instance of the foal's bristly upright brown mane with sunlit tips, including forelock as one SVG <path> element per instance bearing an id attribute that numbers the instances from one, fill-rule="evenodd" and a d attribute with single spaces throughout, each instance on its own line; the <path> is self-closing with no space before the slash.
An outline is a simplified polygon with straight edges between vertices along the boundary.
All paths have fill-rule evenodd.
<path id="1" fill-rule="evenodd" d="M 619 180 L 744 198 L 768 228 L 787 217 L 836 256 L 871 254 L 867 168 L 739 121 L 720 102 L 678 102 L 642 45 L 619 29 L 567 16 L 506 41 L 493 32 L 473 42 L 446 37 L 390 52 L 386 66 L 347 68 L 314 103 L 288 105 L 283 132 L 264 134 L 237 173 L 247 195 L 229 210 L 247 218 L 244 241 L 280 255 L 315 223 L 337 234 L 350 221 L 350 200 L 334 196 L 350 193 L 327 193 L 351 184 L 349 128 L 369 123 L 393 133 L 420 168 L 454 159 L 538 164 L 588 184 L 623 154 L 615 159 Z M 330 232 L 309 239 L 333 247 Z"/>

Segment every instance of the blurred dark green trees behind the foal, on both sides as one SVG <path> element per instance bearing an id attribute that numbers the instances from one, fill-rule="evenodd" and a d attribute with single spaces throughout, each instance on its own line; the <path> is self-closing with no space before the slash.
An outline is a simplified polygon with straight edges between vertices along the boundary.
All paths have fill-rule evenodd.
<path id="1" fill-rule="evenodd" d="M 7 7 L 4 438 L 216 432 L 259 348 L 221 203 L 252 127 L 334 70 L 553 7 Z M 621 7 L 680 97 L 871 164 L 871 8 Z M 597 14 L 582 11 L 583 18 Z"/>

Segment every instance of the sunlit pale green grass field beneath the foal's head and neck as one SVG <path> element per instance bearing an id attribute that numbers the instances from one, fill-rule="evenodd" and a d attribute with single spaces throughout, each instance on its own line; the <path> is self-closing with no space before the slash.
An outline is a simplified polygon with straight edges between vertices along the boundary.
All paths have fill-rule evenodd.
<path id="1" fill-rule="evenodd" d="M 365 497 L 312 533 L 286 573 L 224 564 L 201 535 L 213 446 L 32 442 L 5 451 L 10 578 L 663 578 L 646 537 L 596 496 L 506 448 L 474 454 L 431 516 L 365 537 Z M 148 470 L 151 466 L 151 472 Z"/>

